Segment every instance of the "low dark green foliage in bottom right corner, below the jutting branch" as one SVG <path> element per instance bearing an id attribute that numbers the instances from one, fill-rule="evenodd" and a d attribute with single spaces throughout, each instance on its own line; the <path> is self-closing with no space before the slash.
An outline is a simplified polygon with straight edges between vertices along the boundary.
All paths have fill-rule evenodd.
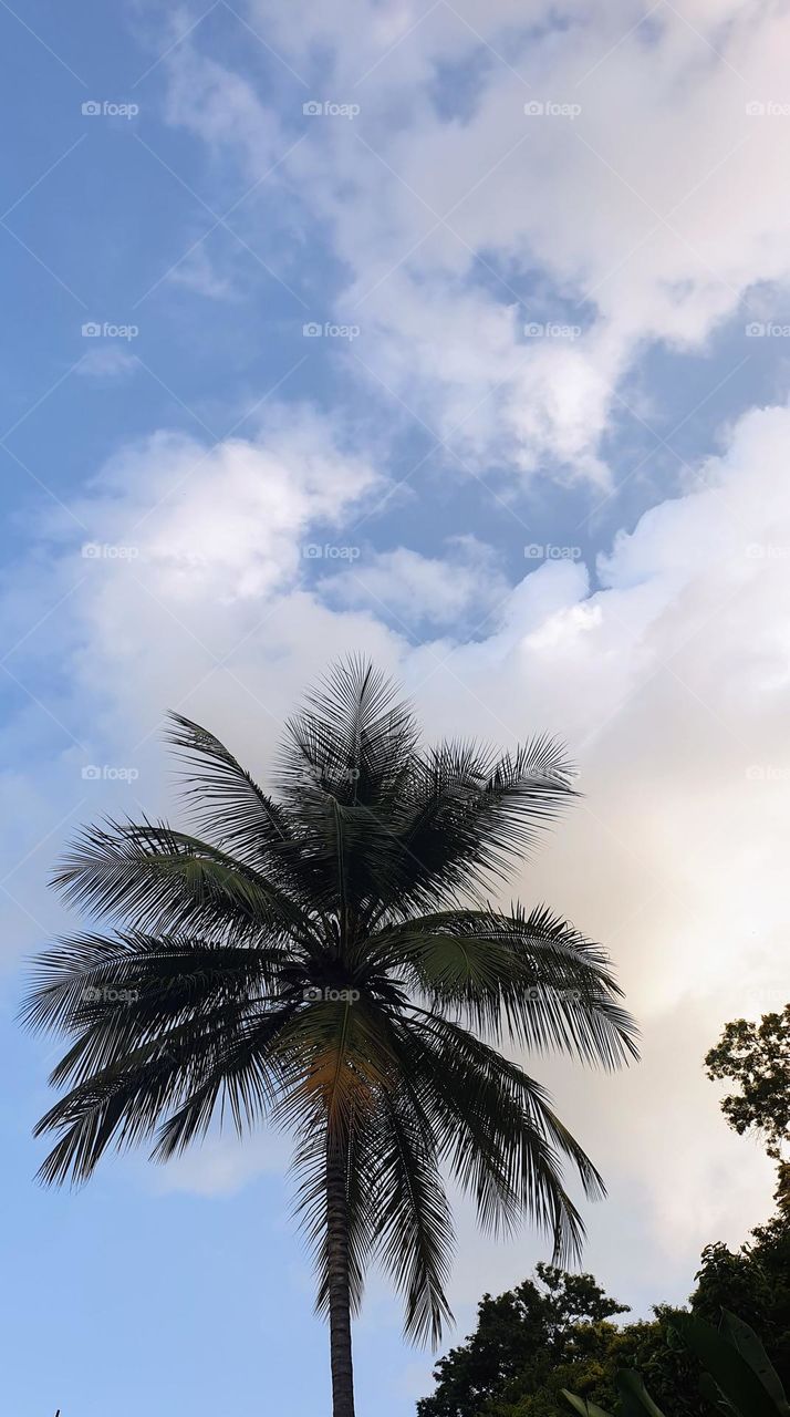
<path id="1" fill-rule="evenodd" d="M 473 1336 L 436 1366 L 436 1390 L 418 1404 L 419 1417 L 558 1417 L 562 1391 L 610 1413 L 622 1400 L 617 1373 L 637 1372 L 668 1417 L 711 1417 L 699 1391 L 699 1363 L 677 1331 L 682 1314 L 656 1308 L 653 1321 L 619 1326 L 626 1312 L 590 1275 L 552 1274 L 479 1309 Z M 580 1285 L 575 1288 L 575 1285 Z M 555 1299 L 549 1302 L 551 1294 Z M 746 1321 L 790 1386 L 790 1220 L 779 1214 L 731 1251 L 708 1246 L 691 1295 L 691 1312 L 718 1326 L 722 1311 Z M 633 1394 L 631 1394 L 633 1399 Z M 579 1408 L 580 1410 L 580 1408 Z M 639 1411 L 639 1408 L 637 1408 Z"/>

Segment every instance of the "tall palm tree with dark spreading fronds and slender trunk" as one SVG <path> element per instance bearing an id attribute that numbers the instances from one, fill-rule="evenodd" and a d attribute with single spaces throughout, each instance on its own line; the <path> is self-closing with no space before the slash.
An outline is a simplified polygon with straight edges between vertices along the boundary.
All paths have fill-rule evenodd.
<path id="1" fill-rule="evenodd" d="M 437 1342 L 453 1248 L 443 1173 L 484 1226 L 525 1213 L 578 1251 L 595 1166 L 503 1040 L 616 1067 L 636 1056 L 605 952 L 541 905 L 484 897 L 573 796 L 558 745 L 420 748 L 370 665 L 336 667 L 286 726 L 275 794 L 171 716 L 195 833 L 89 828 L 55 884 L 109 922 L 37 961 L 24 1016 L 72 1037 L 37 1134 L 41 1178 L 110 1146 L 166 1161 L 229 1110 L 294 1136 L 297 1212 L 328 1315 L 334 1417 L 354 1417 L 351 1316 L 377 1257 L 405 1331 Z"/>

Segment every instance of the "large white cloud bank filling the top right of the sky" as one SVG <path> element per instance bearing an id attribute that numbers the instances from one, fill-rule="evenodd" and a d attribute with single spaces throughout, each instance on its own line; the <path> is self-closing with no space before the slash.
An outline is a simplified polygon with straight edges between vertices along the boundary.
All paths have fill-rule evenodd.
<path id="1" fill-rule="evenodd" d="M 251 181 L 283 159 L 283 198 L 309 194 L 294 222 L 317 224 L 348 272 L 336 309 L 365 333 L 357 373 L 463 458 L 605 482 L 600 438 L 646 343 L 698 349 L 746 323 L 756 282 L 787 281 L 776 7 L 251 0 L 248 14 L 300 98 L 320 52 L 320 98 L 360 115 L 304 135 L 293 95 L 219 82 L 185 44 L 171 118 Z M 525 339 L 525 323 L 572 333 Z"/>

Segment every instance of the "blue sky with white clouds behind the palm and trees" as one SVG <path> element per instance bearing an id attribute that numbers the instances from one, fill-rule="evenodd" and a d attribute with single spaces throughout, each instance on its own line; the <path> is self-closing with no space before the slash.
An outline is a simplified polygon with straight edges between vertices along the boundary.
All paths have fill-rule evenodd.
<path id="1" fill-rule="evenodd" d="M 338 655 L 428 738 L 559 734 L 514 883 L 643 1061 L 529 1058 L 634 1314 L 772 1209 L 702 1058 L 787 1000 L 790 14 L 774 0 L 0 0 L 3 1411 L 317 1417 L 287 1148 L 42 1190 L 16 1012 L 79 823 L 178 818 L 167 708 L 265 781 Z M 454 1333 L 545 1246 L 459 1206 Z M 371 1277 L 358 1410 L 430 1390 Z"/>

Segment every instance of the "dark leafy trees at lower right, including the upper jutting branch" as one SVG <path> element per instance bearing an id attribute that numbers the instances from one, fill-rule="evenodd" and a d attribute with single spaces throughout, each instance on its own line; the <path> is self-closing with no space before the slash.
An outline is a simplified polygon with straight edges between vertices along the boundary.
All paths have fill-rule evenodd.
<path id="1" fill-rule="evenodd" d="M 790 1166 L 782 1163 L 790 1117 L 790 1006 L 760 1024 L 729 1023 L 705 1063 L 711 1078 L 739 1084 L 722 1110 L 738 1132 L 760 1131 L 769 1155 L 780 1161 L 780 1189 L 779 1213 L 739 1250 L 721 1241 L 705 1247 L 691 1315 L 716 1326 L 722 1314 L 736 1314 L 760 1335 L 790 1390 Z M 538 1265 L 544 1285 L 549 1272 Z M 592 1275 L 554 1275 L 562 1321 L 554 1322 L 551 1295 L 529 1280 L 496 1299 L 484 1295 L 476 1332 L 439 1360 L 436 1390 L 418 1403 L 419 1417 L 556 1417 L 565 1390 L 578 1394 L 579 1411 L 589 1403 L 606 1413 L 624 1396 L 619 1373 L 634 1370 L 672 1417 L 709 1413 L 698 1391 L 698 1365 L 672 1339 L 682 1311 L 657 1305 L 653 1321 L 617 1326 L 609 1319 L 624 1309 Z M 588 1306 L 568 1302 L 571 1282 L 586 1287 Z"/>

